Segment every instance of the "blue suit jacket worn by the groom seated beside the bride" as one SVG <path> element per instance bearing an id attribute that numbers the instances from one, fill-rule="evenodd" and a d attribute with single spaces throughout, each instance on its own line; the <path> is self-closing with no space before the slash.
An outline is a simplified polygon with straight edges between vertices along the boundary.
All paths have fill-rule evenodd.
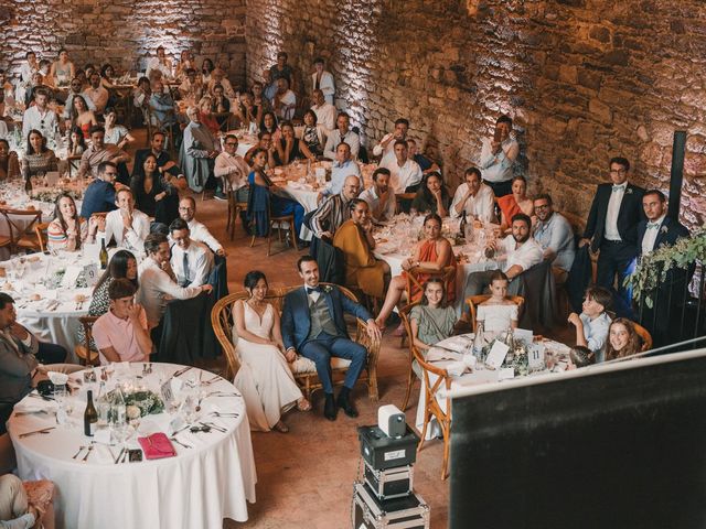
<path id="1" fill-rule="evenodd" d="M 344 313 L 353 314 L 363 321 L 372 317 L 364 306 L 349 300 L 338 288 L 331 287 L 330 292 L 327 292 L 327 289 L 328 287 L 323 288 L 321 295 L 324 296 L 329 305 L 329 313 L 340 335 L 349 336 L 345 321 L 343 320 Z M 286 348 L 295 347 L 299 349 L 307 342 L 311 331 L 311 312 L 309 310 L 309 295 L 307 295 L 303 287 L 292 290 L 285 296 L 281 328 Z"/>

